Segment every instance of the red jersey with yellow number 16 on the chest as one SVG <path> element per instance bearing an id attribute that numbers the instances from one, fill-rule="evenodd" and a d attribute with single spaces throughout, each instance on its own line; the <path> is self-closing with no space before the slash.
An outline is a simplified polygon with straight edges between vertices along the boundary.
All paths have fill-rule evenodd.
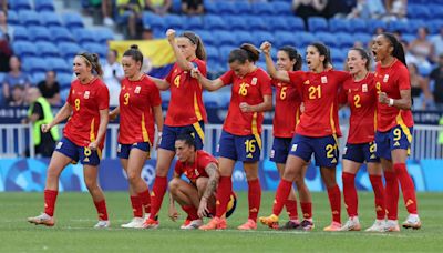
<path id="1" fill-rule="evenodd" d="M 272 95 L 269 75 L 261 68 L 243 78 L 229 70 L 220 80 L 225 85 L 233 84 L 228 115 L 223 129 L 235 135 L 260 134 L 262 112 L 241 112 L 240 103 L 255 105 L 264 102 L 264 95 Z"/>

